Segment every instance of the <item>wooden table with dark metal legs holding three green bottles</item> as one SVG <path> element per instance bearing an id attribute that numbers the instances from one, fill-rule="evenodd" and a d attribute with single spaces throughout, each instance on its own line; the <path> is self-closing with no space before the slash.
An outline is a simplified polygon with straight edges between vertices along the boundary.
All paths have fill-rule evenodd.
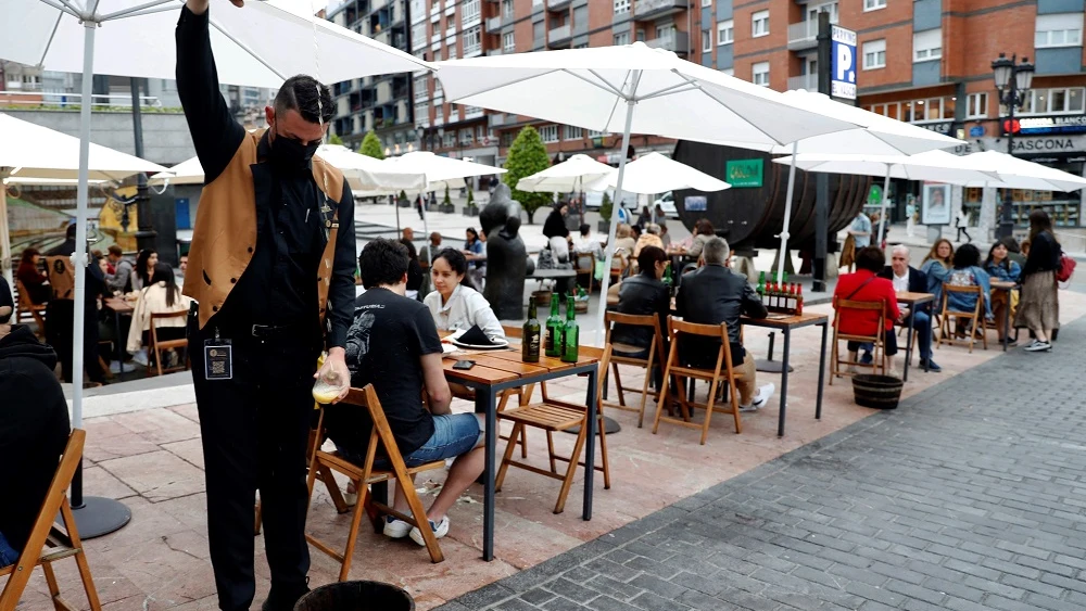
<path id="1" fill-rule="evenodd" d="M 556 270 L 561 271 L 561 270 Z M 507 389 L 538 384 L 556 378 L 588 374 L 585 405 L 589 408 L 589 431 L 584 441 L 584 506 L 582 518 L 592 519 L 592 480 L 595 469 L 596 442 L 596 377 L 603 351 L 580 346 L 577 362 L 540 356 L 539 362 L 523 362 L 519 349 L 464 351 L 446 354 L 442 360 L 445 379 L 475 390 L 476 412 L 487 415 L 487 468 L 483 473 L 483 539 L 482 558 L 494 559 L 494 476 L 497 473 L 497 394 Z M 457 360 L 473 360 L 471 369 L 453 369 Z"/>

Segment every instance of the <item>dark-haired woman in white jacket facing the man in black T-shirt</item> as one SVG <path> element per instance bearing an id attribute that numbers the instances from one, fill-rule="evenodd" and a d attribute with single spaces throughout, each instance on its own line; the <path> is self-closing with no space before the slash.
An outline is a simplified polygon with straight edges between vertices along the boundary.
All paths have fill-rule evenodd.
<path id="1" fill-rule="evenodd" d="M 434 255 L 430 264 L 434 291 L 422 301 L 430 308 L 434 324 L 439 331 L 467 330 L 478 324 L 491 341 L 505 340 L 505 331 L 490 302 L 475 290 L 467 271 L 467 258 L 459 251 L 445 249 Z"/>

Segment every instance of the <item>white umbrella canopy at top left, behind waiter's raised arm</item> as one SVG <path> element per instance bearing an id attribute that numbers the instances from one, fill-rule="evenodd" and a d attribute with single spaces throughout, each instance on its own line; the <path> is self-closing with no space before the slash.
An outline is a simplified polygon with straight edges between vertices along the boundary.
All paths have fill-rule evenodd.
<path id="1" fill-rule="evenodd" d="M 81 73 L 86 20 L 103 24 L 94 40 L 94 74 L 173 79 L 173 34 L 182 5 L 178 0 L 7 0 L 5 23 L 18 36 L 0 38 L 0 58 Z M 428 67 L 308 9 L 310 2 L 290 0 L 248 2 L 241 10 L 214 2 L 211 44 L 219 81 L 276 89 L 295 74 L 339 82 Z"/>

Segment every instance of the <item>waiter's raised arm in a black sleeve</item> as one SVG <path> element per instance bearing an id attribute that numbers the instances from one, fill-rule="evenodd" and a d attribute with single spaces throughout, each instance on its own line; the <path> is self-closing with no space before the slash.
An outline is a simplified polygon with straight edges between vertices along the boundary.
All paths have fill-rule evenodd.
<path id="1" fill-rule="evenodd" d="M 241 0 L 232 1 L 241 5 Z M 204 170 L 204 182 L 223 173 L 245 137 L 244 128 L 230 114 L 218 88 L 209 27 L 207 0 L 188 0 L 175 34 L 177 94 Z"/>

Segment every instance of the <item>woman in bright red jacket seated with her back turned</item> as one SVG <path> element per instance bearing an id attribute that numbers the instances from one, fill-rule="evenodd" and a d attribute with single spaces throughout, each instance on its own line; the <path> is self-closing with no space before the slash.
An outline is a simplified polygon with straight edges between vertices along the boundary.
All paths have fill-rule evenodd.
<path id="1" fill-rule="evenodd" d="M 894 322 L 901 318 L 897 308 L 897 293 L 894 283 L 876 273 L 886 266 L 886 255 L 875 246 L 861 249 L 856 253 L 856 272 L 845 273 L 837 278 L 837 288 L 833 292 L 834 307 L 837 302 L 882 302 L 886 316 L 886 374 L 894 369 L 897 354 L 897 336 L 894 334 Z M 879 330 L 879 313 L 875 310 L 843 309 L 837 311 L 837 329 L 842 333 L 855 335 L 874 335 Z M 859 342 L 848 342 L 848 360 L 857 362 L 856 353 L 860 349 Z M 848 371 L 855 372 L 855 366 Z"/>

